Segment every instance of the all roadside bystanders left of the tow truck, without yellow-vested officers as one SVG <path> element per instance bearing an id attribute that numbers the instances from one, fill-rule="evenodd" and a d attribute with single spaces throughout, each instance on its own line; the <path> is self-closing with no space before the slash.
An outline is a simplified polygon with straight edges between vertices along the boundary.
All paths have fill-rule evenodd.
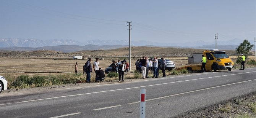
<path id="1" fill-rule="evenodd" d="M 162 57 L 162 72 L 163 72 L 163 77 L 165 77 L 165 59 Z M 105 79 L 105 72 L 104 70 L 101 70 L 101 68 L 99 67 L 99 58 L 96 58 L 96 61 L 93 62 L 93 66 L 91 65 L 91 58 L 88 58 L 88 61 L 84 64 L 83 66 L 83 75 L 86 74 L 86 83 L 90 83 L 91 80 L 91 72 L 92 72 L 92 67 L 94 69 L 94 72 L 96 74 L 96 78 L 95 78 L 95 82 L 100 81 L 102 82 Z M 148 73 L 149 71 L 152 72 L 153 71 L 153 78 L 158 78 L 159 75 L 159 62 L 157 57 L 148 59 L 148 57 L 142 57 L 142 59 L 138 59 L 135 63 L 136 65 L 136 70 L 140 71 L 142 73 L 142 78 L 146 79 L 148 78 Z M 117 72 L 119 73 L 119 81 L 124 81 L 124 72 L 128 72 L 129 71 L 129 64 L 128 62 L 126 62 L 126 60 L 124 59 L 123 61 L 118 60 L 116 61 L 112 61 L 112 72 Z M 78 72 L 78 64 L 76 62 L 75 65 L 75 73 L 77 74 Z M 122 80 L 121 80 L 122 79 Z"/>

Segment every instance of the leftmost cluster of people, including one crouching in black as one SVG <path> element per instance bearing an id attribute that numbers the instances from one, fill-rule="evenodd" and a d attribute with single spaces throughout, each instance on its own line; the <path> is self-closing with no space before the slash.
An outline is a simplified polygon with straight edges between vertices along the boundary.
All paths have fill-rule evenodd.
<path id="1" fill-rule="evenodd" d="M 92 59 L 88 58 L 88 60 L 83 66 L 83 75 L 86 74 L 86 83 L 90 83 L 90 80 L 91 80 L 91 72 L 92 72 L 91 61 Z M 105 79 L 105 72 L 104 70 L 101 70 L 99 65 L 100 65 L 100 62 L 99 62 L 99 58 L 97 57 L 96 61 L 93 62 L 93 69 L 96 74 L 95 82 L 97 81 L 103 82 L 103 80 Z M 76 62 L 75 73 L 77 74 L 77 72 L 78 72 L 78 64 Z"/>

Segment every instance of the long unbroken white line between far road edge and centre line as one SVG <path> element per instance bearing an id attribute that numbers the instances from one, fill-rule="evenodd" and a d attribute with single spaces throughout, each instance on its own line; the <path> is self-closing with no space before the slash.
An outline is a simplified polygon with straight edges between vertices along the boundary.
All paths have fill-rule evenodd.
<path id="1" fill-rule="evenodd" d="M 256 72 L 256 71 L 253 71 L 253 72 Z M 253 72 L 245 72 L 245 73 L 253 73 Z M 239 75 L 239 74 L 245 74 L 245 73 L 236 73 L 236 74 L 230 74 L 230 75 Z M 224 76 L 230 76 L 230 75 L 220 75 L 220 76 L 215 76 L 215 77 L 224 77 Z M 215 78 L 215 77 L 198 78 L 198 79 L 193 79 L 193 80 L 202 80 L 202 79 Z M 16 102 L 16 103 L 32 102 L 32 101 L 38 101 L 38 100 L 48 100 L 48 99 L 55 99 L 55 98 L 61 98 L 61 97 L 81 96 L 81 95 L 86 95 L 86 94 L 94 94 L 94 93 L 110 92 L 110 91 L 119 91 L 119 90 L 142 88 L 142 87 L 148 87 L 148 86 L 166 85 L 166 84 L 171 84 L 171 83 L 179 83 L 179 82 L 193 81 L 193 80 L 175 81 L 175 82 L 162 83 L 162 84 L 156 84 L 156 85 L 138 86 L 138 87 L 133 87 L 133 88 L 115 89 L 115 90 L 109 90 L 109 91 L 90 92 L 90 93 L 75 94 L 75 95 L 69 95 L 69 96 L 50 97 L 50 98 L 44 98 L 44 99 L 21 101 L 21 102 Z"/>

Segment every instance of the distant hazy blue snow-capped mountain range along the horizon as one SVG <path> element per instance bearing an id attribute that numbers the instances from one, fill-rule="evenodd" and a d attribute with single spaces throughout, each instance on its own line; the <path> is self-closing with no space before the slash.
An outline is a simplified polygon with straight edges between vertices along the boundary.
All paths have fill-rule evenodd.
<path id="1" fill-rule="evenodd" d="M 184 42 L 184 43 L 164 43 L 164 41 L 152 42 L 145 40 L 134 41 L 131 40 L 132 46 L 177 46 L 177 47 L 194 47 L 194 46 L 203 46 L 203 45 L 215 45 L 215 42 L 206 42 L 202 40 L 193 41 L 193 42 Z M 218 45 L 239 45 L 243 40 L 233 39 L 229 41 L 218 41 Z M 251 44 L 254 44 L 254 41 L 250 41 Z M 58 46 L 58 45 L 129 45 L 128 40 L 84 40 L 82 42 L 76 40 L 39 40 L 36 38 L 0 38 L 0 47 L 29 47 L 37 48 L 43 46 Z"/>

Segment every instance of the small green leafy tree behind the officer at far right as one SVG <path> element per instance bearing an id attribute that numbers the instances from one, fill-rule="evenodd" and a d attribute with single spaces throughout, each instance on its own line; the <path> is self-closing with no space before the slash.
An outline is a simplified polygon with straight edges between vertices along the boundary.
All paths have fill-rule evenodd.
<path id="1" fill-rule="evenodd" d="M 235 51 L 237 52 L 237 54 L 244 54 L 244 56 L 247 58 L 253 46 L 254 45 L 251 45 L 251 43 L 245 39 L 243 40 L 243 43 L 240 43 L 240 45 L 235 49 Z M 238 56 L 237 58 L 240 58 L 240 56 Z"/>

